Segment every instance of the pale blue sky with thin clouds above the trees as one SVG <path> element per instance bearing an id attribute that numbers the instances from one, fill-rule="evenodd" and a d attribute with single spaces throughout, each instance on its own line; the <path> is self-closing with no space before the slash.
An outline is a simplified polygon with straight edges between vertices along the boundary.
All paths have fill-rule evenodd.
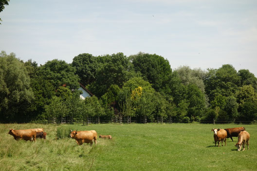
<path id="1" fill-rule="evenodd" d="M 38 65 L 144 52 L 257 77 L 257 0 L 10 0 L 0 18 L 0 51 Z"/>

